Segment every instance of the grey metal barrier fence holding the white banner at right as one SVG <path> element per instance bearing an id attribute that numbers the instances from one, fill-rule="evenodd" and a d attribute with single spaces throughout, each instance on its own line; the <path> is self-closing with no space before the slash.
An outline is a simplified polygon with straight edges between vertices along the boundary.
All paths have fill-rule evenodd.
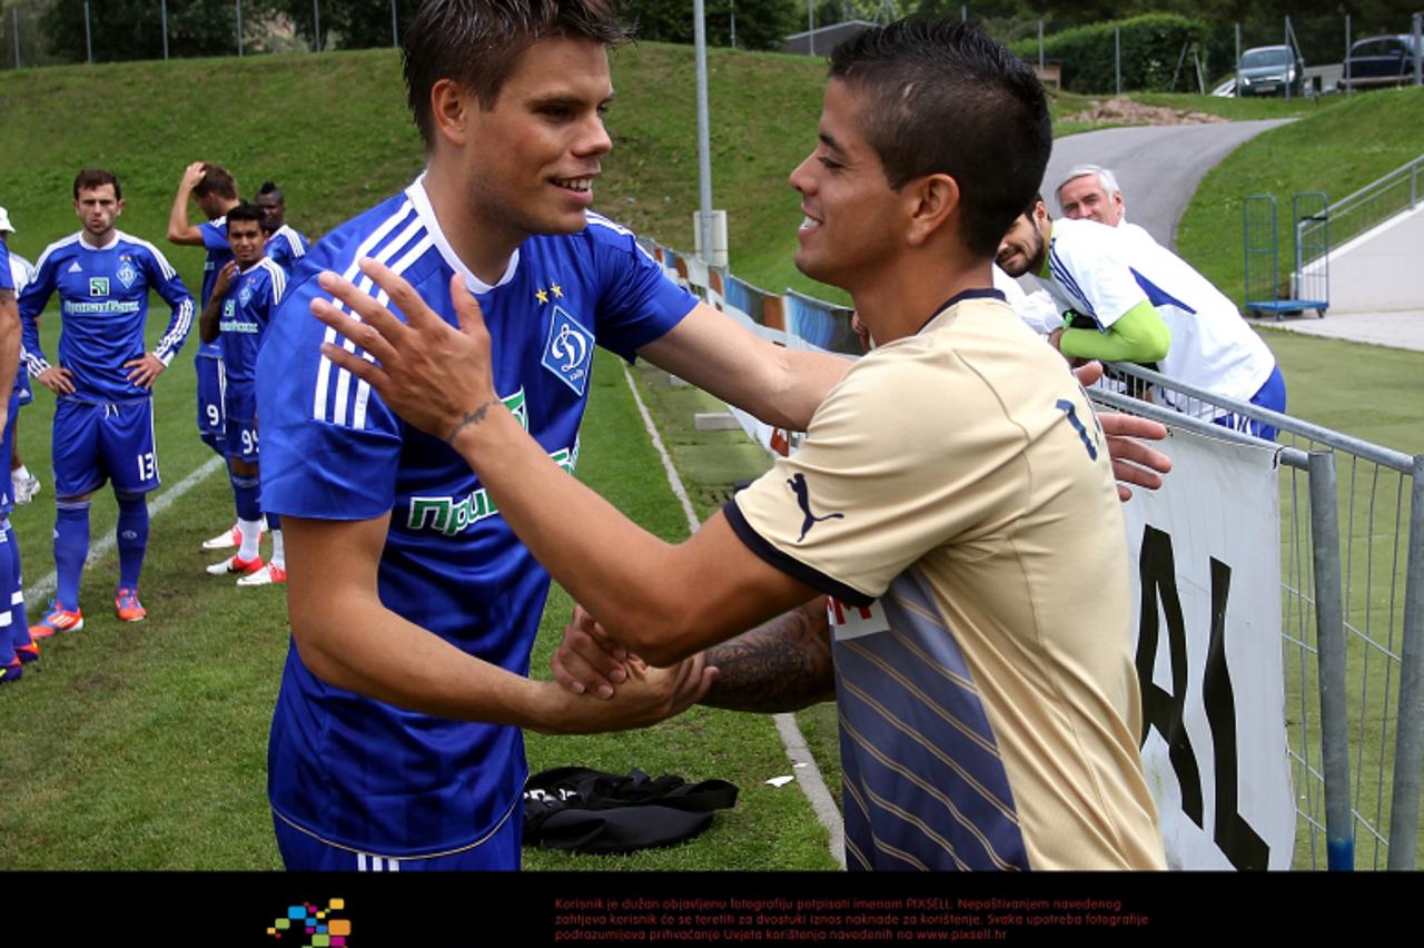
<path id="1" fill-rule="evenodd" d="M 1215 396 L 1139 366 L 1180 424 L 1249 417 L 1280 430 L 1282 636 L 1297 865 L 1415 868 L 1424 769 L 1424 455 Z M 1156 404 L 1155 404 L 1156 403 Z M 1163 407 L 1171 403 L 1176 411 Z M 1250 437 L 1216 424 L 1222 437 Z"/>

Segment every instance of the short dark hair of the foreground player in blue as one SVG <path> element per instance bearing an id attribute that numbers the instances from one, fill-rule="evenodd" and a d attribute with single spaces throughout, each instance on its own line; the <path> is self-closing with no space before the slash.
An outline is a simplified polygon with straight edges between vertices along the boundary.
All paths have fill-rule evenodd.
<path id="1" fill-rule="evenodd" d="M 520 56 L 550 37 L 617 46 L 628 38 L 611 0 L 426 0 L 402 44 L 410 112 L 434 141 L 430 90 L 450 78 L 494 108 Z M 498 147 L 497 144 L 494 147 Z"/>

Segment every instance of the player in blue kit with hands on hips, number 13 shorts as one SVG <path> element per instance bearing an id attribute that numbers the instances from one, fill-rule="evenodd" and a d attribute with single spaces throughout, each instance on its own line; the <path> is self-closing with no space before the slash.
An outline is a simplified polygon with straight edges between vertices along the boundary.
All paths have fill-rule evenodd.
<path id="1" fill-rule="evenodd" d="M 80 576 L 88 555 L 90 495 L 111 481 L 118 501 L 118 586 L 114 609 L 135 622 L 147 615 L 138 575 L 148 545 L 150 491 L 158 487 L 154 446 L 154 380 L 192 327 L 192 297 L 162 252 L 114 225 L 124 211 L 118 178 L 85 169 L 74 178 L 78 233 L 44 249 L 34 282 L 20 296 L 26 367 L 54 393 L 54 567 L 57 588 L 34 638 L 77 632 Z M 58 364 L 40 346 L 38 317 L 60 293 Z M 144 352 L 148 293 L 172 307 L 168 327 Z"/>

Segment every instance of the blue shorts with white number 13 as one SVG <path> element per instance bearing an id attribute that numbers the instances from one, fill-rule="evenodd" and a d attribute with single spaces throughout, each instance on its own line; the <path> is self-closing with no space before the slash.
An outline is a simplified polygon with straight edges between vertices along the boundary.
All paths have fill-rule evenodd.
<path id="1" fill-rule="evenodd" d="M 115 493 L 147 494 L 158 487 L 154 403 L 54 403 L 54 497 L 80 497 L 114 483 Z"/>

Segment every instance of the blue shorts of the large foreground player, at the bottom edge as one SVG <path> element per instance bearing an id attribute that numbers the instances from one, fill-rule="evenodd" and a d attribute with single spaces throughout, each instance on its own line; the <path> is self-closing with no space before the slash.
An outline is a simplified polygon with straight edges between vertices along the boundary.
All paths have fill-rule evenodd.
<path id="1" fill-rule="evenodd" d="M 393 858 L 332 846 L 306 830 L 292 826 L 276 811 L 276 848 L 282 863 L 293 873 L 478 873 L 520 868 L 520 841 L 524 837 L 524 804 L 515 800 L 504 823 L 478 844 L 439 855 L 403 855 Z"/>

